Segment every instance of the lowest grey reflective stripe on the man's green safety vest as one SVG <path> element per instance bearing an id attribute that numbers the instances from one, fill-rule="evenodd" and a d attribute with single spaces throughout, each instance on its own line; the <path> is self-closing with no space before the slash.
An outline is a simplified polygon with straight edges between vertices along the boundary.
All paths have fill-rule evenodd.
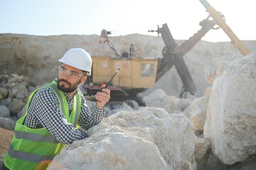
<path id="1" fill-rule="evenodd" d="M 13 146 L 10 145 L 8 153 L 11 157 L 15 157 L 17 159 L 23 159 L 30 162 L 41 162 L 43 160 L 52 160 L 55 156 L 43 156 L 39 154 L 31 154 L 28 152 L 20 152 L 13 149 Z"/>

